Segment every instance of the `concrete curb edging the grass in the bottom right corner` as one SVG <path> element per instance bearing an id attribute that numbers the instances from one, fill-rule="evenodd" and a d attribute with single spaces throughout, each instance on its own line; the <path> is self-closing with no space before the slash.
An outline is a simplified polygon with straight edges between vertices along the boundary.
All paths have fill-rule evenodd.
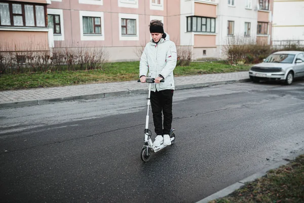
<path id="1" fill-rule="evenodd" d="M 285 158 L 285 159 L 289 159 L 289 160 L 293 160 L 295 157 L 301 155 L 301 154 L 304 154 L 304 150 L 300 150 L 298 151 L 297 153 L 294 153 L 293 155 Z M 268 166 L 268 167 L 265 167 L 263 168 L 261 171 L 251 175 L 251 176 L 248 176 L 247 178 L 244 178 L 243 180 L 240 180 L 214 194 L 211 194 L 210 196 L 207 196 L 206 198 L 196 202 L 196 203 L 208 203 L 209 201 L 212 201 L 212 200 L 215 200 L 215 199 L 218 199 L 218 198 L 221 198 L 221 197 L 225 197 L 231 193 L 233 193 L 235 190 L 237 189 L 240 189 L 241 187 L 243 187 L 247 182 L 252 182 L 252 181 L 255 181 L 256 179 L 258 178 L 261 178 L 263 176 L 266 175 L 266 173 L 270 170 L 273 170 L 273 169 L 276 169 L 282 165 L 286 165 L 287 163 L 289 163 L 289 161 L 286 161 L 286 160 L 281 160 L 281 161 L 278 161 L 276 163 L 274 163 L 273 165 L 271 166 Z"/>

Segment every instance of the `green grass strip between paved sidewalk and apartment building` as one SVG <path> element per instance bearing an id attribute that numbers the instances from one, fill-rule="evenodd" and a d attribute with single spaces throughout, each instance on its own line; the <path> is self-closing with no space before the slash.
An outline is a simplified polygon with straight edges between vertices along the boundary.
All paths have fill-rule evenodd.
<path id="1" fill-rule="evenodd" d="M 239 72 L 249 68 L 250 65 L 233 66 L 224 62 L 192 62 L 189 66 L 177 66 L 174 75 Z M 139 61 L 133 61 L 106 63 L 103 70 L 3 74 L 0 75 L 0 90 L 130 81 L 138 79 L 138 72 Z"/>

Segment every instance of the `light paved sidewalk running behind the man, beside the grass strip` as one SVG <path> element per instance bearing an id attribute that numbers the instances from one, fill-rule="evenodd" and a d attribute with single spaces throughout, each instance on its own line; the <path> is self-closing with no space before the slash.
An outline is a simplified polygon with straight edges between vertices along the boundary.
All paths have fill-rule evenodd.
<path id="1" fill-rule="evenodd" d="M 248 72 L 175 77 L 175 89 L 249 82 Z M 0 91 L 0 109 L 44 105 L 58 101 L 103 98 L 144 93 L 147 85 L 137 81 L 73 85 L 52 88 Z"/>

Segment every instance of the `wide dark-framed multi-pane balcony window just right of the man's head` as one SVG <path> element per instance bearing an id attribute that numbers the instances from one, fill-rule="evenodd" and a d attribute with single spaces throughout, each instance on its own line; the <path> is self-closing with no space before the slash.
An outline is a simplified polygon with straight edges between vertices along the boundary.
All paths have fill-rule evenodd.
<path id="1" fill-rule="evenodd" d="M 187 17 L 187 31 L 215 32 L 215 18 L 189 16 Z"/>

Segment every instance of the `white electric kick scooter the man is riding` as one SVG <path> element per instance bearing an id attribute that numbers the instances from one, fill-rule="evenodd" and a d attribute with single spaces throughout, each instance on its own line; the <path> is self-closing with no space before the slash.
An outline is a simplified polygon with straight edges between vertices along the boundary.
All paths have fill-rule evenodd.
<path id="1" fill-rule="evenodd" d="M 137 80 L 137 82 L 140 82 L 140 80 Z M 147 162 L 151 158 L 151 152 L 158 152 L 161 149 L 167 147 L 166 145 L 162 144 L 159 147 L 155 147 L 152 140 L 151 130 L 148 129 L 149 125 L 149 107 L 150 107 L 150 92 L 151 92 L 151 84 L 155 82 L 155 78 L 146 78 L 146 83 L 149 83 L 149 92 L 148 92 L 148 102 L 147 102 L 147 115 L 146 115 L 146 124 L 144 129 L 144 145 L 142 147 L 140 158 L 144 162 Z M 161 80 L 161 82 L 165 82 L 165 80 Z M 174 144 L 175 141 L 175 129 L 172 128 L 169 133 L 170 139 L 171 139 L 171 145 Z"/>

